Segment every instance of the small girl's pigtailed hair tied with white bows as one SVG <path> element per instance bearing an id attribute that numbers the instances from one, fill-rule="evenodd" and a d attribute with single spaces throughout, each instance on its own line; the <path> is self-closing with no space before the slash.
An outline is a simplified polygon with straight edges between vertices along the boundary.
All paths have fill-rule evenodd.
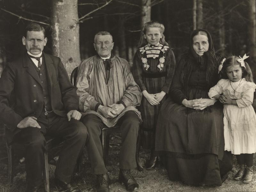
<path id="1" fill-rule="evenodd" d="M 228 57 L 225 62 L 223 63 L 223 68 L 221 70 L 221 78 L 223 79 L 228 79 L 227 73 L 226 73 L 226 69 L 231 66 L 231 65 L 240 65 L 240 67 L 242 68 L 242 77 L 246 79 L 246 81 L 250 81 L 253 82 L 253 76 L 252 76 L 252 71 L 250 66 L 248 65 L 247 62 L 244 61 L 244 67 L 241 66 L 241 63 L 239 63 L 237 60 L 240 59 L 237 56 L 230 56 Z"/>

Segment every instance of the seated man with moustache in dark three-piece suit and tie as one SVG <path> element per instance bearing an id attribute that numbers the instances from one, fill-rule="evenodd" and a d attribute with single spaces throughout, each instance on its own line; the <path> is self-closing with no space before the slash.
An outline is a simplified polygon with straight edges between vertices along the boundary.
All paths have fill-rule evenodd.
<path id="1" fill-rule="evenodd" d="M 26 192 L 38 192 L 42 183 L 46 133 L 64 139 L 56 185 L 66 192 L 80 192 L 70 180 L 88 133 L 79 122 L 76 89 L 60 58 L 42 52 L 46 42 L 42 26 L 26 27 L 22 43 L 27 52 L 9 63 L 0 78 L 0 121 L 8 127 L 7 141 L 25 146 Z"/>

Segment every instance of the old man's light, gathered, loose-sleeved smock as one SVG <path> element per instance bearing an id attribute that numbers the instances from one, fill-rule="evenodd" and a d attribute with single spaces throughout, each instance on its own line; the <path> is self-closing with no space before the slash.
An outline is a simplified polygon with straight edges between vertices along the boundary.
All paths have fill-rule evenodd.
<path id="1" fill-rule="evenodd" d="M 135 83 L 128 62 L 120 57 L 111 59 L 110 74 L 106 83 L 106 72 L 103 59 L 92 56 L 84 60 L 78 68 L 76 87 L 79 97 L 79 109 L 82 115 L 95 114 L 108 127 L 114 126 L 125 112 L 134 111 L 141 120 L 136 106 L 140 105 L 142 93 Z M 115 118 L 105 118 L 95 111 L 99 102 L 103 106 L 117 104 L 122 101 L 126 108 Z"/>

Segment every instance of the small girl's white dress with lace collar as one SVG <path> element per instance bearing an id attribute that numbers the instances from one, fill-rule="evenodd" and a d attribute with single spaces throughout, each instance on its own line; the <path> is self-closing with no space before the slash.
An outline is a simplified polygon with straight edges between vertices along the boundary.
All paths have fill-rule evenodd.
<path id="1" fill-rule="evenodd" d="M 224 105 L 223 118 L 225 150 L 235 155 L 256 152 L 256 115 L 252 107 L 255 88 L 254 83 L 244 78 L 241 82 L 221 79 L 208 93 L 211 99 L 222 93 L 236 99 L 237 105 Z"/>

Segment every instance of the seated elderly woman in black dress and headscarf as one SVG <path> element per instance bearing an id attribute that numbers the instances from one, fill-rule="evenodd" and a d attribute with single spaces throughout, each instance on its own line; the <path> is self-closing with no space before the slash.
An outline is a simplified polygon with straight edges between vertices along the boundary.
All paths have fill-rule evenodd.
<path id="1" fill-rule="evenodd" d="M 193 31 L 156 126 L 155 149 L 170 180 L 221 185 L 232 169 L 232 156 L 224 151 L 223 106 L 208 97 L 220 60 L 209 32 Z"/>

